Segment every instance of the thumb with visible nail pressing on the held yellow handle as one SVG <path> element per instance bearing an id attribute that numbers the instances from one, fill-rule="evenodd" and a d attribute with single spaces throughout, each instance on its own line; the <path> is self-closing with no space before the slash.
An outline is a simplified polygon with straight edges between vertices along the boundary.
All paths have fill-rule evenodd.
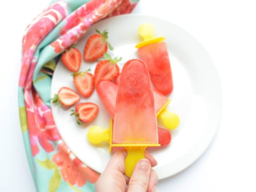
<path id="1" fill-rule="evenodd" d="M 129 181 L 128 192 L 146 192 L 148 188 L 151 164 L 147 159 L 141 159 L 133 169 Z"/>

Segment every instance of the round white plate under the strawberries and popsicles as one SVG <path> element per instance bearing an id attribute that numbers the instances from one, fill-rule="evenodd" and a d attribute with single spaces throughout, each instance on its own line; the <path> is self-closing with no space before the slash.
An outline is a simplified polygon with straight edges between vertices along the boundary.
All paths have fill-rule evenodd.
<path id="1" fill-rule="evenodd" d="M 174 90 L 169 98 L 172 102 L 168 109 L 180 117 L 180 125 L 171 131 L 171 144 L 158 151 L 152 151 L 158 161 L 155 170 L 159 179 L 178 173 L 191 165 L 208 147 L 220 122 L 221 89 L 215 66 L 201 44 L 180 27 L 154 17 L 145 15 L 122 15 L 105 19 L 91 26 L 84 37 L 77 42 L 77 48 L 83 53 L 84 45 L 95 28 L 108 29 L 109 42 L 115 47 L 110 55 L 123 57 L 122 62 L 137 58 L 135 45 L 140 41 L 137 29 L 142 23 L 151 23 L 155 27 L 155 36 L 165 36 L 171 60 Z M 96 63 L 82 61 L 81 71 L 91 68 L 94 72 Z M 120 69 L 122 65 L 119 65 Z M 59 61 L 52 78 L 51 97 L 58 90 L 67 86 L 74 90 L 72 72 Z M 111 154 L 108 145 L 100 147 L 90 145 L 87 131 L 92 125 L 108 128 L 110 115 L 104 108 L 96 91 L 90 98 L 81 102 L 94 102 L 99 106 L 96 119 L 85 127 L 78 126 L 75 117 L 70 116 L 70 109 L 52 105 L 52 112 L 60 135 L 71 151 L 85 164 L 102 172 Z"/>

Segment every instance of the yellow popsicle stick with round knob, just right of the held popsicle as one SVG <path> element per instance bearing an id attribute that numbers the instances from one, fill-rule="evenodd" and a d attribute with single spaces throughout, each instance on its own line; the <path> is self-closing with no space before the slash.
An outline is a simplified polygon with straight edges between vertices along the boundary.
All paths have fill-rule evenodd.
<path id="1" fill-rule="evenodd" d="M 156 114 L 158 119 L 161 119 L 167 129 L 175 129 L 180 124 L 180 118 L 176 113 L 167 110 L 168 104 L 171 100 L 168 100 L 165 105 Z"/>

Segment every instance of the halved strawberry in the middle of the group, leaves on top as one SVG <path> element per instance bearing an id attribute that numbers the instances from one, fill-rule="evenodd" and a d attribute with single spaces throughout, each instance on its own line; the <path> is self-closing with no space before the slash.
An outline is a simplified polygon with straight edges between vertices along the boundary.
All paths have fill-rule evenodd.
<path id="1" fill-rule="evenodd" d="M 93 75 L 87 71 L 73 73 L 73 82 L 77 91 L 84 97 L 91 96 L 94 91 Z"/>

